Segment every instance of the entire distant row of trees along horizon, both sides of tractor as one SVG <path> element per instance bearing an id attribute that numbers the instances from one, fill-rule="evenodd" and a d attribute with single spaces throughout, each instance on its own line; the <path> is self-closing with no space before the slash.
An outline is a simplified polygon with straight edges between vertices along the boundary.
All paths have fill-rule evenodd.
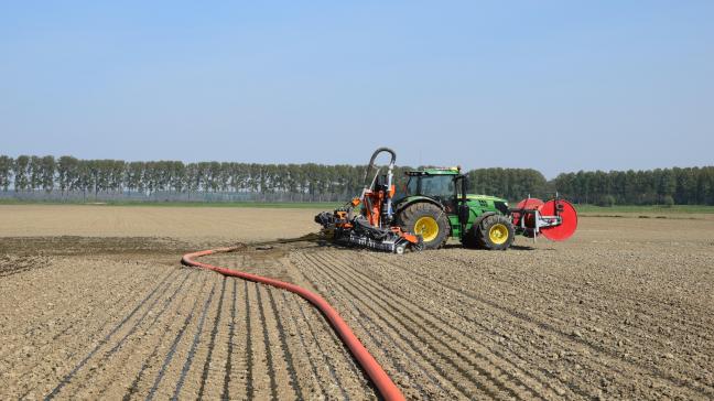
<path id="1" fill-rule="evenodd" d="M 403 185 L 404 172 L 394 171 Z M 180 161 L 125 162 L 73 156 L 0 155 L 0 189 L 15 193 L 331 194 L 348 199 L 363 187 L 364 165 L 258 164 Z M 576 203 L 601 205 L 714 205 L 714 166 L 650 171 L 577 172 L 550 182 L 532 169 L 477 169 L 467 172 L 469 191 L 511 201 L 548 197 L 556 191 Z M 301 197 L 303 199 L 303 197 Z"/>

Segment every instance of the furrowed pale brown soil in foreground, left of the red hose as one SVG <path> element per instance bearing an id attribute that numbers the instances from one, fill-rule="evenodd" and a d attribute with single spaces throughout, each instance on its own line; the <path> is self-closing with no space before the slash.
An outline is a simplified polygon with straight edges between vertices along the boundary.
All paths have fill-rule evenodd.
<path id="1" fill-rule="evenodd" d="M 176 263 L 45 264 L 0 281 L 3 398 L 375 397 L 294 294 Z"/>

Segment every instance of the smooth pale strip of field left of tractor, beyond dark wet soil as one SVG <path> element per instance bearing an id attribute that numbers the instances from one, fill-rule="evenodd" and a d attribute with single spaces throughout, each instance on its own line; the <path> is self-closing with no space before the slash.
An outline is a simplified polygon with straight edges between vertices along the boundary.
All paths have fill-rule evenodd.
<path id="1" fill-rule="evenodd" d="M 316 231 L 318 209 L 0 205 L 0 237 L 171 237 L 259 241 Z"/>

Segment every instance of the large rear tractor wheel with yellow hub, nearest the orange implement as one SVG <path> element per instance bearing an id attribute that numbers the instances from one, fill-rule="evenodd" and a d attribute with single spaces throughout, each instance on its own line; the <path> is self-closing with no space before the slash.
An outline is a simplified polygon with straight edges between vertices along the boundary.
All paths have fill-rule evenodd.
<path id="1" fill-rule="evenodd" d="M 397 216 L 403 231 L 422 236 L 423 249 L 439 249 L 448 239 L 448 217 L 436 205 L 420 202 L 407 206 Z"/>

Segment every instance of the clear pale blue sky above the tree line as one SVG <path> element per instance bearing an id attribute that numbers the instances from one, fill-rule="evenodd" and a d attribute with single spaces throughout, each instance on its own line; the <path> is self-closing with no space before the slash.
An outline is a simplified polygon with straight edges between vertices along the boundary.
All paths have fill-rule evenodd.
<path id="1" fill-rule="evenodd" d="M 0 154 L 714 164 L 714 1 L 7 1 Z"/>

